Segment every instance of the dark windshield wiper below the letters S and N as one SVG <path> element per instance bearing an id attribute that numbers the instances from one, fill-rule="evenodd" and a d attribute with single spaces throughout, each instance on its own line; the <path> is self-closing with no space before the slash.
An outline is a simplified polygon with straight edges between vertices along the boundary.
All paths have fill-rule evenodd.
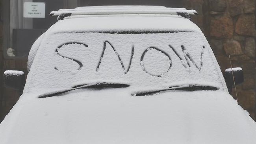
<path id="1" fill-rule="evenodd" d="M 52 96 L 57 96 L 59 94 L 63 94 L 65 92 L 69 92 L 71 90 L 76 89 L 103 89 L 103 88 L 124 88 L 124 87 L 130 87 L 130 85 L 124 84 L 124 83 L 108 83 L 108 82 L 100 82 L 100 83 L 89 83 L 89 84 L 82 84 L 82 85 L 75 85 L 70 89 L 64 89 L 54 92 L 47 92 L 45 94 L 40 94 L 38 98 L 48 98 Z"/>

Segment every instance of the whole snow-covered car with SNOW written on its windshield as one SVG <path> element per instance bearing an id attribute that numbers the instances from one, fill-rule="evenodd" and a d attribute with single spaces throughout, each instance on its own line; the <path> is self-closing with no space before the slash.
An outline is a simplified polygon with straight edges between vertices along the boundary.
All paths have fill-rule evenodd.
<path id="1" fill-rule="evenodd" d="M 256 123 L 229 94 L 194 10 L 161 6 L 60 9 L 33 44 L 23 94 L 1 144 L 255 144 Z M 243 81 L 234 68 L 236 84 Z M 228 88 L 227 88 L 228 86 Z M 24 89 L 23 89 L 24 87 Z"/>

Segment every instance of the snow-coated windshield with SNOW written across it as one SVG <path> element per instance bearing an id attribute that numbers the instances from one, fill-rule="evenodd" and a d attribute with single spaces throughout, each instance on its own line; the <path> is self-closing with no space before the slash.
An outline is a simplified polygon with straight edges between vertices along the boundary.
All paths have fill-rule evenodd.
<path id="1" fill-rule="evenodd" d="M 26 89 L 115 82 L 129 89 L 201 85 L 222 89 L 217 61 L 199 32 L 70 32 L 45 36 Z"/>

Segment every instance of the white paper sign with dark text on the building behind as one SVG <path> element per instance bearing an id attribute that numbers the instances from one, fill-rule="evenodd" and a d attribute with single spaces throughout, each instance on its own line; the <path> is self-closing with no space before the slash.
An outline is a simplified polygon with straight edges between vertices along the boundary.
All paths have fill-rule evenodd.
<path id="1" fill-rule="evenodd" d="M 45 18 L 45 2 L 24 2 L 23 17 Z"/>

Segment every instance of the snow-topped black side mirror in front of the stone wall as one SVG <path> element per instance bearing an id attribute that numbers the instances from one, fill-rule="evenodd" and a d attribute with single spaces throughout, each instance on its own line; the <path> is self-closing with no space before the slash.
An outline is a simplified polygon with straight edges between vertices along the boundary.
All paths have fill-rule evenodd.
<path id="1" fill-rule="evenodd" d="M 235 84 L 239 85 L 243 83 L 243 70 L 242 68 L 227 68 L 224 72 L 224 79 L 226 82 L 226 85 L 228 87 L 228 92 L 231 94 L 232 92 L 232 86 L 234 86 L 233 76 L 232 76 L 232 70 L 234 74 L 234 80 Z"/>

